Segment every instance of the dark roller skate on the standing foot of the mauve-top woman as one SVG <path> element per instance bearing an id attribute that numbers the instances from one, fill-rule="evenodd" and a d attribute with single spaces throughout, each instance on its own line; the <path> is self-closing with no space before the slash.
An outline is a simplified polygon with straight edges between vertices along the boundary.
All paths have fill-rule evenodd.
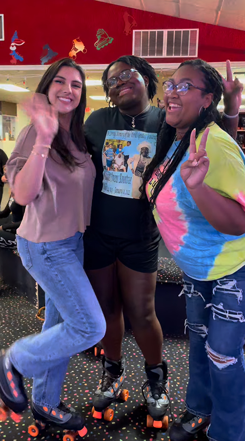
<path id="1" fill-rule="evenodd" d="M 63 441 L 75 441 L 87 433 L 81 415 L 62 401 L 56 408 L 38 406 L 32 402 L 31 411 L 35 419 L 35 423 L 28 427 L 31 437 L 37 437 L 49 426 L 59 427 L 65 432 Z"/>

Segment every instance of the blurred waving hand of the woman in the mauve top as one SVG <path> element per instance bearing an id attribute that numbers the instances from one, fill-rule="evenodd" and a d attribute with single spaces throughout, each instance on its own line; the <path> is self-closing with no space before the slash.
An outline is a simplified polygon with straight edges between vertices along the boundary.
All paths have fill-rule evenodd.
<path id="1" fill-rule="evenodd" d="M 38 142 L 51 145 L 58 132 L 59 121 L 58 113 L 49 104 L 46 95 L 34 94 L 30 100 L 25 101 L 23 107 L 35 126 Z"/>

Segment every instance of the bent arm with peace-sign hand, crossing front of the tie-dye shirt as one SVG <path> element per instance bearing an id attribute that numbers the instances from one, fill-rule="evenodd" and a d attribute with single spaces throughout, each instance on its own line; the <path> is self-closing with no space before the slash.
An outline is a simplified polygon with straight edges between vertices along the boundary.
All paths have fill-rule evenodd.
<path id="1" fill-rule="evenodd" d="M 181 176 L 190 195 L 196 202 L 204 218 L 218 231 L 223 234 L 241 236 L 245 233 L 245 211 L 242 205 L 236 200 L 222 196 L 213 188 L 204 183 L 204 178 L 209 169 L 209 159 L 206 155 L 206 141 L 209 129 L 206 129 L 198 152 L 196 150 L 195 130 L 191 133 L 189 159 L 181 166 Z M 226 157 L 224 164 L 228 162 Z M 240 175 L 240 163 L 237 161 L 237 174 Z M 229 185 L 228 172 L 225 166 L 219 165 L 219 170 L 223 173 L 223 179 Z M 239 172 L 238 172 L 239 171 Z M 236 173 L 236 167 L 234 167 Z M 245 174 L 244 166 L 241 175 Z M 233 176 L 231 176 L 233 177 Z M 217 180 L 219 175 L 217 175 Z M 243 186 L 243 182 L 240 184 Z M 237 186 L 235 186 L 237 188 Z"/>

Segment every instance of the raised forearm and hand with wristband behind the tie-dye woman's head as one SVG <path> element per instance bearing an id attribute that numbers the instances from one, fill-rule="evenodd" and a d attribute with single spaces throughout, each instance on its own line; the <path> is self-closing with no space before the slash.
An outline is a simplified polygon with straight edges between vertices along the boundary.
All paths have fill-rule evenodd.
<path id="1" fill-rule="evenodd" d="M 224 85 L 224 113 L 222 121 L 228 133 L 236 139 L 238 126 L 238 113 L 242 102 L 243 84 L 238 78 L 233 80 L 230 61 L 226 61 L 226 79 L 223 77 Z M 225 116 L 235 116 L 227 118 Z M 237 116 L 236 116 L 237 115 Z"/>

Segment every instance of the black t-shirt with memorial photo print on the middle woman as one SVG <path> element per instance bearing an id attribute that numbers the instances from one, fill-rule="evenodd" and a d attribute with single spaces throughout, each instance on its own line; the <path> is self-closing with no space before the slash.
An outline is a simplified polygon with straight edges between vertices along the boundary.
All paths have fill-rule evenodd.
<path id="1" fill-rule="evenodd" d="M 164 110 L 151 106 L 135 119 L 133 128 L 131 117 L 117 107 L 107 107 L 93 112 L 85 122 L 86 144 L 96 167 L 90 224 L 102 233 L 124 239 L 144 234 L 148 202 L 139 199 L 139 187 L 155 154 L 164 115 Z"/>

